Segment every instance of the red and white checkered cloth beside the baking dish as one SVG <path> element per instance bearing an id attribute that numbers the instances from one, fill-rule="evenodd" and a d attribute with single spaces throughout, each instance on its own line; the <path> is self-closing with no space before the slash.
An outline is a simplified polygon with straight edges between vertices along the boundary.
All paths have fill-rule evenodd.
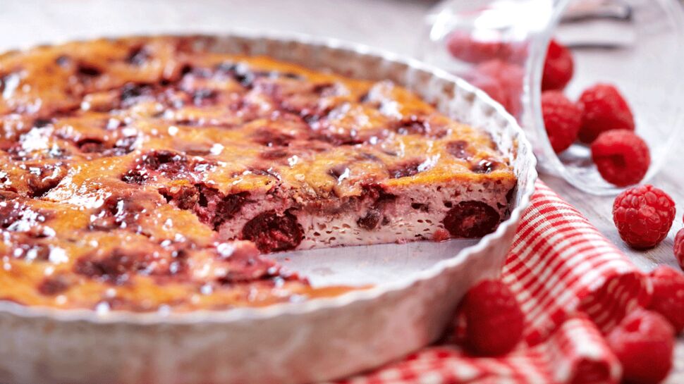
<path id="1" fill-rule="evenodd" d="M 525 340 L 503 357 L 427 347 L 344 384 L 616 383 L 602 337 L 650 292 L 645 275 L 542 182 L 523 215 L 502 279 L 526 316 Z"/>

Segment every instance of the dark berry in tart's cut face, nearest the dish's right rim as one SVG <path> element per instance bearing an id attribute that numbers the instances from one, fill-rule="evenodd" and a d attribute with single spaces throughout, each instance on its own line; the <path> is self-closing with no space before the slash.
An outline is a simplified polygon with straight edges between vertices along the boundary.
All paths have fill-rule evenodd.
<path id="1" fill-rule="evenodd" d="M 452 237 L 482 237 L 499 225 L 501 217 L 494 208 L 483 202 L 460 202 L 444 217 L 444 228 Z"/>

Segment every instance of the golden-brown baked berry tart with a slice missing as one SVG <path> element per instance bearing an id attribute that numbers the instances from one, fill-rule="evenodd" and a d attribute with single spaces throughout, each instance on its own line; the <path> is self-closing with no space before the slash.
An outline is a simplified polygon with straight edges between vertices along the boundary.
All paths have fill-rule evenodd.
<path id="1" fill-rule="evenodd" d="M 486 133 L 392 82 L 183 37 L 0 56 L 0 299 L 224 309 L 336 295 L 267 255 L 482 237 L 516 185 Z"/>

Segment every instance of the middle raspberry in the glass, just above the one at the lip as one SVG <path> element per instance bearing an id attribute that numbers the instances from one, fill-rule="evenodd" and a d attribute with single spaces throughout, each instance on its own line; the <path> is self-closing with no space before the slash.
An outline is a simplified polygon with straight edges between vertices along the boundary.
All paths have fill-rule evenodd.
<path id="1" fill-rule="evenodd" d="M 585 89 L 579 104 L 582 106 L 582 142 L 593 142 L 606 130 L 634 130 L 630 106 L 612 85 L 597 84 Z"/>

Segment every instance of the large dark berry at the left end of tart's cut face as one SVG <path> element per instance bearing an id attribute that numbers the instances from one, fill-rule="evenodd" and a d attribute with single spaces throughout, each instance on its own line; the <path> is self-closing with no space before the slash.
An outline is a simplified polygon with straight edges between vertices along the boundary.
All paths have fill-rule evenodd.
<path id="1" fill-rule="evenodd" d="M 279 252 L 295 249 L 302 242 L 304 231 L 289 211 L 282 215 L 268 211 L 245 224 L 242 238 L 254 242 L 261 252 Z"/>

